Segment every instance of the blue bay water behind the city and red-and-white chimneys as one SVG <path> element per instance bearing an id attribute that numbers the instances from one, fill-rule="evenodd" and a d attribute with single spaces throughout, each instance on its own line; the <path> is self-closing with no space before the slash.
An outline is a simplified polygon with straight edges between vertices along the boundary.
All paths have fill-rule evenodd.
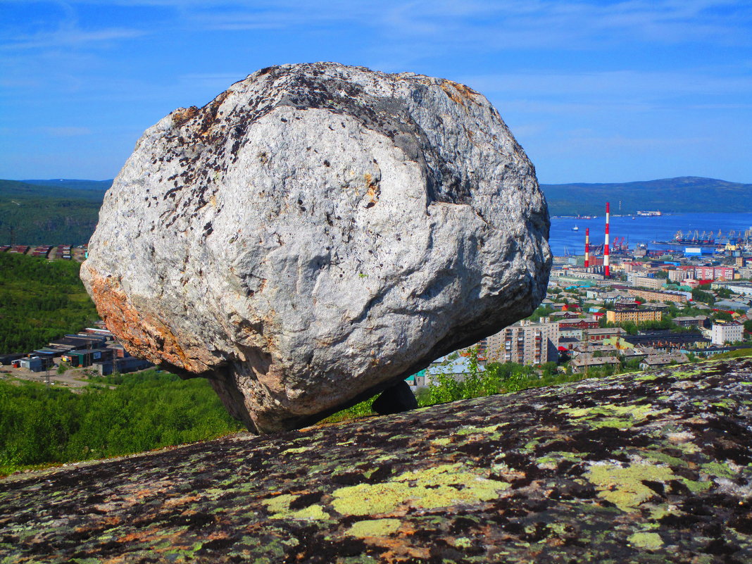
<path id="1" fill-rule="evenodd" d="M 613 209 L 613 208 L 611 208 Z M 572 231 L 573 226 L 578 226 L 579 231 Z M 590 227 L 590 245 L 603 243 L 605 232 L 605 214 L 593 220 L 575 220 L 572 217 L 552 217 L 549 244 L 554 256 L 562 256 L 565 251 L 569 254 L 584 254 L 585 228 Z M 611 215 L 611 244 L 614 239 L 626 237 L 629 241 L 629 249 L 635 244 L 647 244 L 648 249 L 681 249 L 676 245 L 666 246 L 653 244 L 652 241 L 673 241 L 676 232 L 687 232 L 695 229 L 702 235 L 703 231 L 712 231 L 718 234 L 718 229 L 723 237 L 730 230 L 744 233 L 752 229 L 752 214 L 672 214 L 660 217 L 614 217 Z"/>

